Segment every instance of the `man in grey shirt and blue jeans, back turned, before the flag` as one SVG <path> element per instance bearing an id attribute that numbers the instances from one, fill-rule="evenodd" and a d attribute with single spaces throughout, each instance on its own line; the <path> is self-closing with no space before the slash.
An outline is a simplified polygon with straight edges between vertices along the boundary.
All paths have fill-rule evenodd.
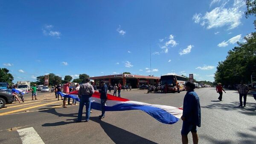
<path id="1" fill-rule="evenodd" d="M 83 108 L 85 104 L 85 122 L 89 121 L 90 118 L 90 105 L 91 105 L 91 97 L 94 93 L 93 86 L 89 84 L 90 79 L 85 79 L 85 84 L 82 84 L 79 88 L 78 96 L 80 98 L 79 103 L 79 111 L 78 111 L 78 117 L 77 122 L 81 122 L 82 114 L 83 114 Z"/>

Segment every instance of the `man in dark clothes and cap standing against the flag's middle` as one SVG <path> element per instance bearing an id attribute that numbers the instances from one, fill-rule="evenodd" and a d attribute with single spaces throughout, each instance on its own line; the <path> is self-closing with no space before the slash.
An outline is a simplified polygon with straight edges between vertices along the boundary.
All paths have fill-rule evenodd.
<path id="1" fill-rule="evenodd" d="M 104 81 L 100 82 L 100 104 L 101 104 L 101 110 L 102 110 L 102 115 L 99 115 L 99 118 L 105 118 L 105 103 L 108 98 L 108 86 L 104 83 Z"/>

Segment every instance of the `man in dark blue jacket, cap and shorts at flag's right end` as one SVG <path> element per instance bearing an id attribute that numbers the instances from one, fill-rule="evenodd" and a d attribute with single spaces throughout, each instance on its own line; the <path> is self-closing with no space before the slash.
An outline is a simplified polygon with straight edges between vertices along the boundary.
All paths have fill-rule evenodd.
<path id="1" fill-rule="evenodd" d="M 193 143 L 198 144 L 197 126 L 201 127 L 201 107 L 198 95 L 194 92 L 195 84 L 188 81 L 185 84 L 187 91 L 183 101 L 183 121 L 181 137 L 182 144 L 188 144 L 188 134 L 192 132 Z"/>

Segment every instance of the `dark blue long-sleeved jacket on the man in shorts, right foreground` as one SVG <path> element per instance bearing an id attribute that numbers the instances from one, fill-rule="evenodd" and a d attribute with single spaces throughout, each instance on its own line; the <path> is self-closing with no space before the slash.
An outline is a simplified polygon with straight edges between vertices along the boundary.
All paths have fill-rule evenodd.
<path id="1" fill-rule="evenodd" d="M 201 127 L 201 107 L 198 95 L 194 91 L 186 93 L 183 101 L 184 122 Z"/>

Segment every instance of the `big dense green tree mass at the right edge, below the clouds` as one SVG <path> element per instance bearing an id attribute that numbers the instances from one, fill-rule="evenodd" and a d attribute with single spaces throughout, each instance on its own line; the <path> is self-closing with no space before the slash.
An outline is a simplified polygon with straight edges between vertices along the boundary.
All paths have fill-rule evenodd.
<path id="1" fill-rule="evenodd" d="M 215 81 L 222 84 L 239 84 L 241 80 L 250 83 L 250 76 L 256 74 L 256 32 L 244 37 L 228 52 L 226 60 L 218 63 Z"/>

